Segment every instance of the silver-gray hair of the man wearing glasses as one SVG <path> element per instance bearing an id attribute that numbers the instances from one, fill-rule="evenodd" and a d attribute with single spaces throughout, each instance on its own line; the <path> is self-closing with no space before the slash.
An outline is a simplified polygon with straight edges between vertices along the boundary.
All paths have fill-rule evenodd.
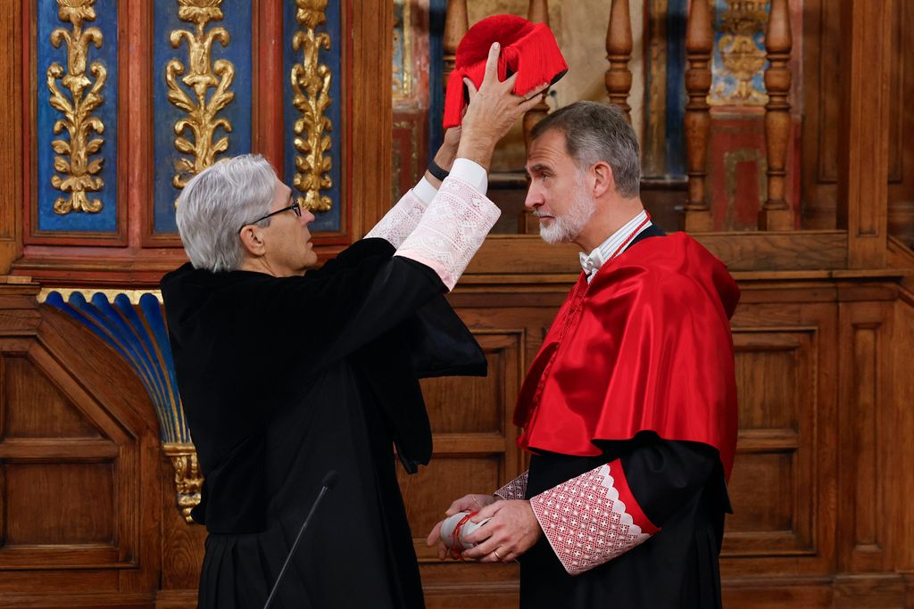
<path id="1" fill-rule="evenodd" d="M 177 230 L 194 268 L 213 272 L 241 266 L 238 231 L 270 213 L 276 172 L 260 154 L 241 154 L 197 173 L 177 199 Z M 270 219 L 261 226 L 269 226 Z"/>

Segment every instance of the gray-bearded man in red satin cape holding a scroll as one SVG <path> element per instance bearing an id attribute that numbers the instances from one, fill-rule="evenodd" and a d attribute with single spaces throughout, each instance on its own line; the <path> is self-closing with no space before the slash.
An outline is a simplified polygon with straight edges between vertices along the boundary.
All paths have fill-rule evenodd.
<path id="1" fill-rule="evenodd" d="M 572 104 L 532 137 L 526 206 L 545 241 L 579 245 L 582 272 L 517 399 L 529 470 L 446 512 L 485 521 L 462 558 L 520 562 L 522 607 L 720 607 L 739 289 L 651 223 L 618 107 Z"/>

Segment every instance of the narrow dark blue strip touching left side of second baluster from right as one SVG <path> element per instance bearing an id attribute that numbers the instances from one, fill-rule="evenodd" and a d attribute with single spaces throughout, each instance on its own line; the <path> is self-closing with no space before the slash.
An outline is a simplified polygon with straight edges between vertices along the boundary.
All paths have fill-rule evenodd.
<path id="1" fill-rule="evenodd" d="M 666 16 L 666 173 L 685 177 L 685 24 L 688 0 L 669 0 Z"/>

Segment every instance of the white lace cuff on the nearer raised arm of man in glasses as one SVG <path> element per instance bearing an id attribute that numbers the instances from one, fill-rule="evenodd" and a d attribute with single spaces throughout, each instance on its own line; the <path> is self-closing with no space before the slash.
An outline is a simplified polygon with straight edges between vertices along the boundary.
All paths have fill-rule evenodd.
<path id="1" fill-rule="evenodd" d="M 498 206 L 483 194 L 448 176 L 395 256 L 434 269 L 441 282 L 453 289 L 499 215 Z"/>

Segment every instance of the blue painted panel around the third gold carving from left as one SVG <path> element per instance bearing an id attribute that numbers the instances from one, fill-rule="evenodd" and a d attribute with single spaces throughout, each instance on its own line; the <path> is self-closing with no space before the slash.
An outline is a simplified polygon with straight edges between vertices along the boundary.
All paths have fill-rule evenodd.
<path id="1" fill-rule="evenodd" d="M 342 11 L 340 4 L 341 3 L 339 2 L 330 3 L 326 10 L 327 23 L 324 26 L 317 27 L 317 32 L 326 32 L 330 36 L 330 49 L 321 48 L 319 58 L 322 64 L 327 66 L 327 68 L 330 68 L 330 73 L 333 75 L 330 79 L 330 99 L 332 102 L 330 107 L 324 112 L 324 116 L 330 119 L 330 122 L 333 125 L 332 131 L 330 131 L 328 135 L 330 135 L 332 141 L 330 158 L 333 162 L 333 166 L 329 173 L 330 179 L 333 180 L 334 185 L 329 190 L 322 191 L 322 194 L 326 194 L 330 197 L 330 200 L 333 201 L 333 206 L 330 208 L 330 211 L 314 214 L 316 219 L 311 225 L 312 232 L 336 231 L 340 230 L 342 226 L 340 223 L 340 182 L 343 174 L 341 172 L 341 148 L 343 146 L 343 134 L 345 131 L 340 118 L 343 105 L 340 82 L 343 72 L 340 67 L 340 54 L 344 42 L 340 35 Z M 282 105 L 284 109 L 283 131 L 285 132 L 285 167 L 282 168 L 282 175 L 283 181 L 286 184 L 289 184 L 296 194 L 298 191 L 292 186 L 292 179 L 295 176 L 295 155 L 298 154 L 298 151 L 295 150 L 295 144 L 293 143 L 295 131 L 292 129 L 292 126 L 301 113 L 298 110 L 295 110 L 295 107 L 292 105 L 293 93 L 290 75 L 292 73 L 292 65 L 302 61 L 301 49 L 297 52 L 292 50 L 292 37 L 299 28 L 298 20 L 295 19 L 295 3 L 290 1 L 284 2 L 282 12 L 282 73 L 284 75 Z M 377 86 L 384 87 L 385 90 L 390 89 L 389 82 L 378 82 Z M 361 137 L 361 134 L 353 133 L 353 139 L 359 137 Z"/>

